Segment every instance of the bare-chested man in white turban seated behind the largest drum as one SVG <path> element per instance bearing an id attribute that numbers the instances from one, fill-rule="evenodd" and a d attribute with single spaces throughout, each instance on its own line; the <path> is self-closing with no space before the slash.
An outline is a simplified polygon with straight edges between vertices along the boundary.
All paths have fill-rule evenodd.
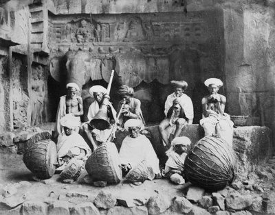
<path id="1" fill-rule="evenodd" d="M 232 146 L 233 122 L 230 116 L 225 114 L 226 97 L 218 94 L 223 82 L 217 78 L 210 78 L 204 81 L 210 94 L 201 100 L 203 118 L 199 124 L 203 127 L 205 136 L 217 134 Z"/>

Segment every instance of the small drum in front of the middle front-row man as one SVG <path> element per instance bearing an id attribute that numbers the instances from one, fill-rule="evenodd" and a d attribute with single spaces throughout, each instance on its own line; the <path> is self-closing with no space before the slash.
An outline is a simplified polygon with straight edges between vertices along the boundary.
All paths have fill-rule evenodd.
<path id="1" fill-rule="evenodd" d="M 149 175 L 148 166 L 145 161 L 137 164 L 135 168 L 132 168 L 126 175 L 126 180 L 131 182 L 145 181 Z"/>

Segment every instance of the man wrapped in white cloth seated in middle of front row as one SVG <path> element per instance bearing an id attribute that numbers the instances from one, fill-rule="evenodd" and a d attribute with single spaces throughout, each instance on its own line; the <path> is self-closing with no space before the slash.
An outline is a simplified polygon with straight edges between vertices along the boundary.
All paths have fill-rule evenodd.
<path id="1" fill-rule="evenodd" d="M 140 130 L 144 128 L 142 121 L 129 119 L 124 124 L 124 128 L 130 134 L 124 138 L 120 148 L 122 172 L 127 173 L 131 168 L 135 168 L 137 164 L 145 161 L 148 167 L 151 167 L 156 177 L 159 177 L 159 159 L 148 138 L 140 134 Z"/>

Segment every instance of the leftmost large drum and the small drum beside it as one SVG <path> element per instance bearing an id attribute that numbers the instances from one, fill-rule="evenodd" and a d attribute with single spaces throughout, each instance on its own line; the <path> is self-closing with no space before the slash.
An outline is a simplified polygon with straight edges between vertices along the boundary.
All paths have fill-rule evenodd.
<path id="1" fill-rule="evenodd" d="M 56 144 L 48 139 L 36 142 L 23 155 L 23 162 L 39 179 L 50 179 L 55 173 L 57 154 Z M 72 159 L 61 173 L 62 179 L 79 177 L 83 168 L 83 161 Z"/>

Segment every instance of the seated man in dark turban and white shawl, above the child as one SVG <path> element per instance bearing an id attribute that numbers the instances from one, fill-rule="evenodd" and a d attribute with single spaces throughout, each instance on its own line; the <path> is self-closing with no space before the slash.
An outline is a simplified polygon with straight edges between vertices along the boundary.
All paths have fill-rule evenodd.
<path id="1" fill-rule="evenodd" d="M 166 149 L 170 147 L 170 134 L 174 134 L 174 138 L 179 136 L 182 127 L 186 123 L 192 124 L 194 118 L 192 100 L 184 94 L 188 87 L 186 81 L 171 81 L 170 83 L 174 86 L 175 92 L 168 95 L 164 107 L 166 118 L 159 124 L 159 132 Z"/>

